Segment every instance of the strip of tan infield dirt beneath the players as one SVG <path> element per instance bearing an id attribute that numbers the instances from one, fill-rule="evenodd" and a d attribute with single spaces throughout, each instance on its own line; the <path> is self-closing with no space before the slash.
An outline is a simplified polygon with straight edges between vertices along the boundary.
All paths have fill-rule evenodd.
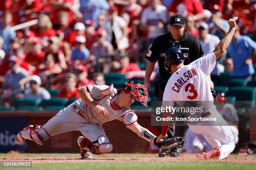
<path id="1" fill-rule="evenodd" d="M 94 155 L 93 155 L 94 156 Z M 256 163 L 256 157 L 253 156 L 231 156 L 228 160 L 200 160 L 196 158 L 196 154 L 183 153 L 177 158 L 158 158 L 158 157 L 137 157 L 136 154 L 132 157 L 94 157 L 88 160 L 81 160 L 79 154 L 77 156 L 23 156 L 20 153 L 8 153 L 5 156 L 0 156 L 0 161 L 32 161 L 32 163 L 101 163 L 101 162 L 225 162 L 225 163 Z M 154 156 L 157 156 L 156 154 Z"/>

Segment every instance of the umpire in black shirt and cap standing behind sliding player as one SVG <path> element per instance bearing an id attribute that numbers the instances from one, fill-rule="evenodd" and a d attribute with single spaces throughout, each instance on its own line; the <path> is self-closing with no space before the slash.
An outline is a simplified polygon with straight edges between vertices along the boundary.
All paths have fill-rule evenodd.
<path id="1" fill-rule="evenodd" d="M 161 80 L 155 84 L 155 95 L 160 101 L 163 100 L 164 88 L 171 76 L 164 67 L 166 50 L 169 49 L 169 47 L 179 47 L 179 49 L 184 53 L 184 65 L 188 65 L 190 62 L 193 62 L 205 55 L 199 40 L 184 32 L 186 25 L 182 15 L 173 15 L 169 26 L 170 32 L 157 37 L 145 56 L 148 61 L 146 65 L 144 85 L 148 87 L 149 90 L 151 90 L 149 77 L 154 70 L 156 62 L 158 61 Z M 167 133 L 168 138 L 171 138 L 172 136 L 184 138 L 187 128 L 187 126 L 177 126 L 174 132 L 174 127 L 171 124 Z M 177 157 L 182 152 L 182 149 L 183 146 L 180 145 L 177 148 L 168 151 L 166 154 L 171 157 Z"/>

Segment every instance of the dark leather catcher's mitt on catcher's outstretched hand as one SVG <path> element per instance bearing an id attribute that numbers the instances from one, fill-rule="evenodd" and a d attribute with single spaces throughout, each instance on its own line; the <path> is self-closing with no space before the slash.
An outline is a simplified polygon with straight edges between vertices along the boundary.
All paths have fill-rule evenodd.
<path id="1" fill-rule="evenodd" d="M 154 144 L 158 148 L 161 148 L 162 151 L 170 150 L 184 143 L 184 139 L 182 137 L 165 138 L 161 140 L 159 143 L 156 143 L 156 139 L 157 138 L 154 139 Z"/>

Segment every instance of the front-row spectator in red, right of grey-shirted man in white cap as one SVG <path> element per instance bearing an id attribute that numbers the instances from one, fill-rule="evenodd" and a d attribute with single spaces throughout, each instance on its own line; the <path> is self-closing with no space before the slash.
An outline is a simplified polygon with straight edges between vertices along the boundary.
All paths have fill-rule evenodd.
<path id="1" fill-rule="evenodd" d="M 61 98 L 79 98 L 77 93 L 77 77 L 73 73 L 69 73 L 64 83 L 64 88 L 59 91 L 58 97 Z"/>

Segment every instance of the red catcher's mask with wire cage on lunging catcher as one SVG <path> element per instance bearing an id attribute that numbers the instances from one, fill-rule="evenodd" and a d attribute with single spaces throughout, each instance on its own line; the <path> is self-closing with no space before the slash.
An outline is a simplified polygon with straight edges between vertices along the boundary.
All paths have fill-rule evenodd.
<path id="1" fill-rule="evenodd" d="M 140 83 L 132 84 L 131 80 L 129 82 L 126 82 L 125 85 L 120 90 L 131 93 L 131 95 L 136 97 L 138 102 L 141 102 L 142 105 L 147 107 L 147 100 L 148 100 L 147 87 L 145 87 Z"/>

